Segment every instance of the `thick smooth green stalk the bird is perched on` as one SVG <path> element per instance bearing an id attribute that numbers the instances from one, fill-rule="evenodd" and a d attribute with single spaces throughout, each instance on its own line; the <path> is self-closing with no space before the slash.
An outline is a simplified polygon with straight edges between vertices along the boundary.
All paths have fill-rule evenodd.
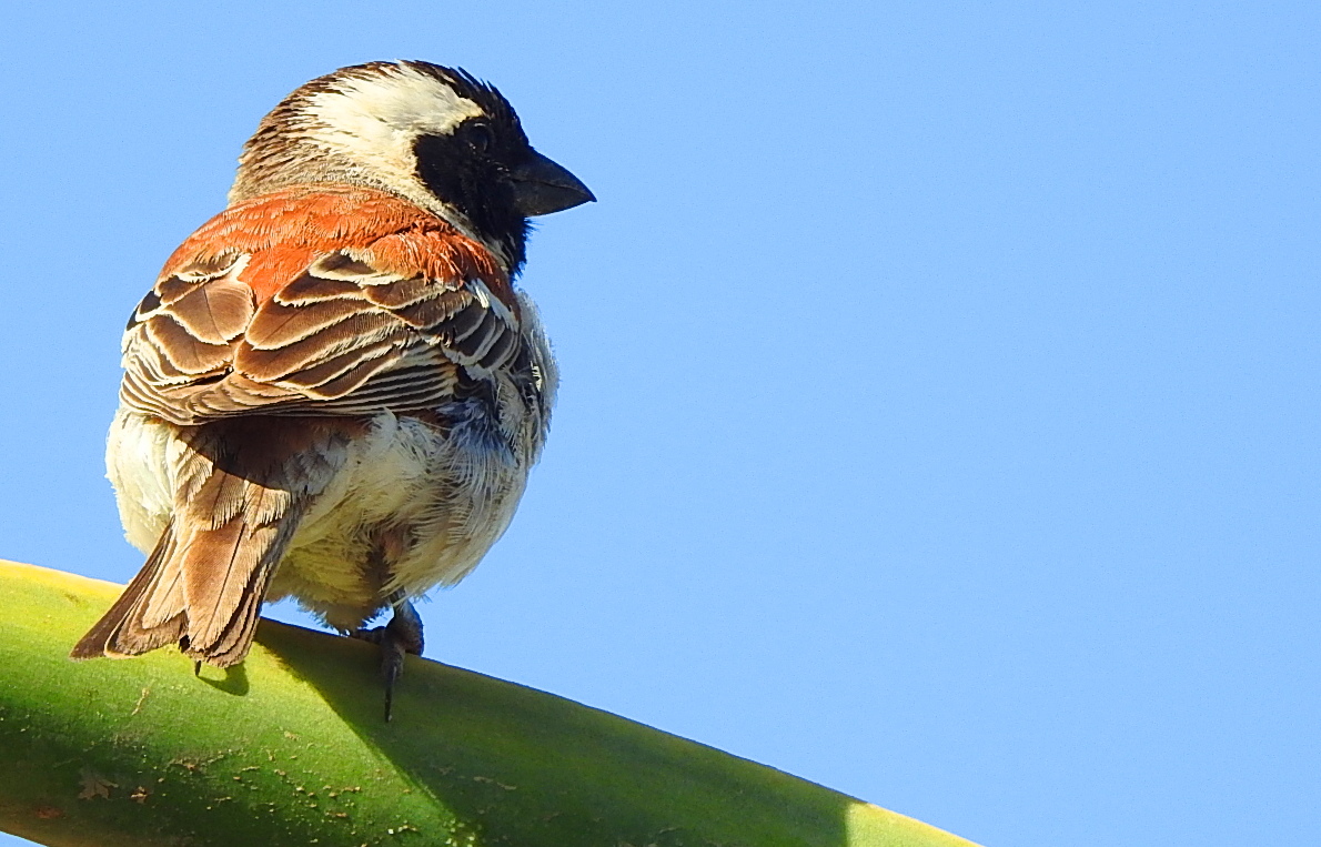
<path id="1" fill-rule="evenodd" d="M 789 774 L 411 659 L 380 715 L 371 645 L 264 621 L 248 659 L 73 662 L 119 587 L 0 563 L 0 829 L 96 847 L 967 847 Z"/>

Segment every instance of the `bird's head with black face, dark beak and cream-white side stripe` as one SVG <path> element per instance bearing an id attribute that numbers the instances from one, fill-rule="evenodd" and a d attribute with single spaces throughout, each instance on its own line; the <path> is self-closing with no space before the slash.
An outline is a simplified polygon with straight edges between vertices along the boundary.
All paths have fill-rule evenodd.
<path id="1" fill-rule="evenodd" d="M 293 91 L 244 145 L 230 202 L 317 182 L 404 197 L 511 272 L 523 263 L 527 218 L 596 200 L 532 149 L 499 91 L 428 62 L 355 65 Z"/>

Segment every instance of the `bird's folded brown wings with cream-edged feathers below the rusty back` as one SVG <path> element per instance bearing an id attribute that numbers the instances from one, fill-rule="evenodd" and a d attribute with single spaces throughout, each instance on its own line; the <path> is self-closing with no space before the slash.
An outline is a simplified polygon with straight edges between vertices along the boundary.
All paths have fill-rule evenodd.
<path id="1" fill-rule="evenodd" d="M 168 275 L 129 320 L 123 402 L 181 425 L 435 408 L 519 354 L 518 316 L 480 276 L 387 272 L 353 252 L 308 254 L 276 284 L 288 256 L 260 252 Z"/>

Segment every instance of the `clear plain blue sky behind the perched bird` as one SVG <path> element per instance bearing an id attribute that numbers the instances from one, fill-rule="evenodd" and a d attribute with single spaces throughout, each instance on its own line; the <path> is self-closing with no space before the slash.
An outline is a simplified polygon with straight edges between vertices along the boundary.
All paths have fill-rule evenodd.
<path id="1" fill-rule="evenodd" d="M 428 655 L 988 846 L 1321 843 L 1317 4 L 5 18 L 0 558 L 141 563 L 119 333 L 262 114 L 461 65 L 601 202 L 531 244 L 550 448 Z"/>

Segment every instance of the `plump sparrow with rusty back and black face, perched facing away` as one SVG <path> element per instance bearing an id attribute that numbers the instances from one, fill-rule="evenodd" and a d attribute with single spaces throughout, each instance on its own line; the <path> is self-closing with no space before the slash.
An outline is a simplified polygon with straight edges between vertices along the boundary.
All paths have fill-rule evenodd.
<path id="1" fill-rule="evenodd" d="M 594 200 L 462 69 L 367 62 L 284 98 L 128 320 L 106 462 L 147 560 L 71 657 L 230 667 L 292 597 L 379 645 L 390 720 L 413 601 L 499 539 L 546 443 L 528 218 Z"/>

